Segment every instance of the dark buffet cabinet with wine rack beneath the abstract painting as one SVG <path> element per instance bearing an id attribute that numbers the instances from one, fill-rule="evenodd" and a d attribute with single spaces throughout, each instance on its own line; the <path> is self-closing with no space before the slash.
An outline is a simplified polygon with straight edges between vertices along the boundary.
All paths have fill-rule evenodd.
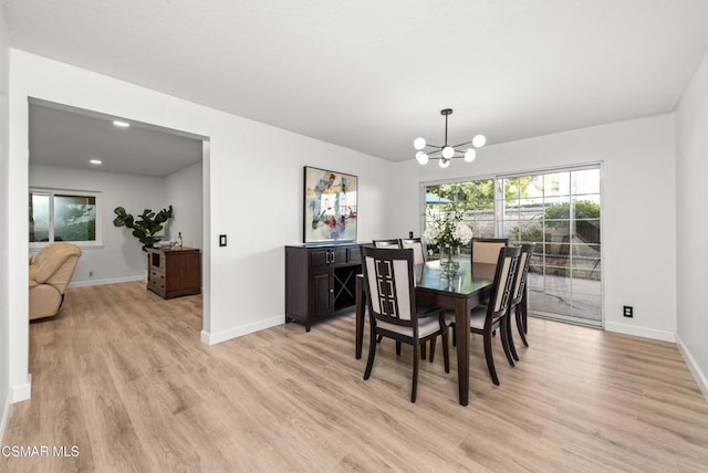
<path id="1" fill-rule="evenodd" d="M 355 304 L 358 244 L 285 246 L 285 322 L 310 326 Z"/>

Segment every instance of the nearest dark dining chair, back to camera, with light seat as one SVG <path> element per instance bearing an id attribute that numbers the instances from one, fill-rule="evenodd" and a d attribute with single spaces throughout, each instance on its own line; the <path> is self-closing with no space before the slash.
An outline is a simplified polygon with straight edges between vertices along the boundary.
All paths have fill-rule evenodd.
<path id="1" fill-rule="evenodd" d="M 364 285 L 368 307 L 371 341 L 364 379 L 368 379 L 376 357 L 376 336 L 393 338 L 413 346 L 413 388 L 418 386 L 418 349 L 421 344 L 442 337 L 445 372 L 450 372 L 448 328 L 442 312 L 437 316 L 418 313 L 414 278 L 413 251 L 409 249 L 362 248 Z"/>

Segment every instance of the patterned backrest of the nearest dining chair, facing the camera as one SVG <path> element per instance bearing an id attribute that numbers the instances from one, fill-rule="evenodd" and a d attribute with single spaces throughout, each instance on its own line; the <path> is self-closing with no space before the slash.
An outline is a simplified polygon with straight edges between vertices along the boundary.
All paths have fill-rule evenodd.
<path id="1" fill-rule="evenodd" d="M 371 314 L 391 324 L 417 326 L 413 251 L 362 246 L 362 261 Z"/>

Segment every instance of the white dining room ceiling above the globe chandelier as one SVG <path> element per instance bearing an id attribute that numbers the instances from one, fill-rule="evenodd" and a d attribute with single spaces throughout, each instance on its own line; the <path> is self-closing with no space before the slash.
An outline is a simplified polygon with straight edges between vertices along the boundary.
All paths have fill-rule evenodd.
<path id="1" fill-rule="evenodd" d="M 2 6 L 13 48 L 393 161 L 445 107 L 492 145 L 670 112 L 708 46 L 705 0 Z"/>

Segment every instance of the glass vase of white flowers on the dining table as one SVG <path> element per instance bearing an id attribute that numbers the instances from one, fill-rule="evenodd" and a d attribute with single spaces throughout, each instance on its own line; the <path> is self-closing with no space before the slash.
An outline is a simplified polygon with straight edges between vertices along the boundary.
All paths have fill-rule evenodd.
<path id="1" fill-rule="evenodd" d="M 423 236 L 426 242 L 438 245 L 442 275 L 457 274 L 460 267 L 460 249 L 472 239 L 472 230 L 462 223 L 462 214 L 460 212 L 451 212 L 447 217 L 431 214 Z"/>

